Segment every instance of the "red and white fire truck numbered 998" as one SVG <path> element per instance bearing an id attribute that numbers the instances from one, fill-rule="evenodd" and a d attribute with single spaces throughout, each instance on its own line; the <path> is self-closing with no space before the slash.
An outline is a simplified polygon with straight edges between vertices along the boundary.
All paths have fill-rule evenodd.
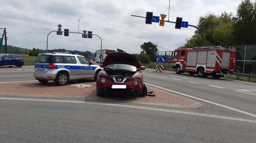
<path id="1" fill-rule="evenodd" d="M 236 63 L 235 49 L 216 47 L 195 47 L 176 49 L 172 68 L 177 74 L 188 72 L 199 77 L 212 76 L 215 79 L 234 72 Z"/>

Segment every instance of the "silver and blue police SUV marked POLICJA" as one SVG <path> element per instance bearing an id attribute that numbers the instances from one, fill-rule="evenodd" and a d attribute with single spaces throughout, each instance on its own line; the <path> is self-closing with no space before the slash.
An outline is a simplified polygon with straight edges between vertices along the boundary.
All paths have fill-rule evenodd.
<path id="1" fill-rule="evenodd" d="M 75 52 L 39 53 L 35 61 L 33 76 L 41 83 L 55 81 L 62 86 L 69 80 L 97 80 L 103 68 Z"/>

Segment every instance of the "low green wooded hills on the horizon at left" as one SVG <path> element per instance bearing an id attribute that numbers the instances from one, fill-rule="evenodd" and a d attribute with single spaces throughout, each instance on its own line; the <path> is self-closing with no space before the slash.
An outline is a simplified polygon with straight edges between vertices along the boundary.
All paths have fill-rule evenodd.
<path id="1" fill-rule="evenodd" d="M 7 45 L 7 53 L 8 54 L 29 54 L 31 50 L 30 49 L 25 49 L 25 48 L 20 48 L 20 47 L 14 47 L 14 46 L 11 46 L 11 45 Z M 49 50 L 49 52 L 60 52 L 60 51 L 70 51 L 70 50 L 66 50 L 66 49 L 53 49 L 53 50 Z M 47 52 L 47 50 L 41 50 L 40 49 L 40 52 Z M 81 54 L 86 52 L 86 51 L 76 51 L 78 54 Z M 3 49 L 0 50 L 0 53 L 5 53 L 5 46 L 3 45 Z M 92 52 L 88 52 L 89 55 L 94 55 L 94 53 Z M 91 56 L 90 55 L 90 56 Z"/>

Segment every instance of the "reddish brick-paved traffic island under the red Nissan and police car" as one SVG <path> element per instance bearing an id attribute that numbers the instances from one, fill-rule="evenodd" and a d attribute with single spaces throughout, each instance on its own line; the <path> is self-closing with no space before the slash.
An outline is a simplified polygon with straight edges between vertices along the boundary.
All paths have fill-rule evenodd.
<path id="1" fill-rule="evenodd" d="M 68 85 L 58 86 L 55 82 L 17 82 L 17 83 L 1 83 L 0 95 L 52 95 L 52 96 L 81 96 L 86 99 L 100 100 L 123 100 L 140 104 L 151 104 L 159 106 L 181 107 L 181 108 L 197 108 L 201 104 L 190 101 L 171 93 L 157 90 L 147 85 L 148 92 L 153 91 L 155 96 L 127 96 L 127 95 L 96 95 L 96 82 L 93 79 L 82 81 L 71 81 Z M 149 94 L 149 93 L 148 93 Z M 150 94 L 149 94 L 150 95 Z"/>

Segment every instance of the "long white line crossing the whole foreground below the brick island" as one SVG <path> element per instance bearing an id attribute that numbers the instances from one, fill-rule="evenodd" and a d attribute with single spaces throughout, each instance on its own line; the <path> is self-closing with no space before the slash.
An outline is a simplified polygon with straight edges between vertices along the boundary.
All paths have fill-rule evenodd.
<path id="1" fill-rule="evenodd" d="M 107 105 L 107 106 L 128 107 L 128 108 L 137 108 L 137 109 L 145 109 L 145 110 L 156 110 L 156 111 L 163 111 L 163 112 L 170 112 L 170 113 L 180 113 L 180 114 L 205 116 L 205 117 L 212 117 L 212 118 L 219 118 L 219 119 L 228 119 L 228 120 L 256 123 L 255 120 L 249 120 L 249 119 L 233 118 L 233 117 L 227 117 L 227 116 L 218 116 L 218 115 L 194 113 L 194 112 L 185 112 L 185 111 L 178 111 L 178 110 L 168 110 L 168 109 L 161 109 L 161 108 L 141 107 L 141 106 L 122 105 L 122 104 L 112 104 L 112 103 L 86 102 L 86 101 L 70 101 L 70 100 L 49 100 L 49 99 L 1 98 L 1 97 L 0 97 L 0 99 L 4 99 L 4 100 L 47 101 L 47 102 L 66 102 L 66 103 L 84 103 L 84 104 Z"/>

